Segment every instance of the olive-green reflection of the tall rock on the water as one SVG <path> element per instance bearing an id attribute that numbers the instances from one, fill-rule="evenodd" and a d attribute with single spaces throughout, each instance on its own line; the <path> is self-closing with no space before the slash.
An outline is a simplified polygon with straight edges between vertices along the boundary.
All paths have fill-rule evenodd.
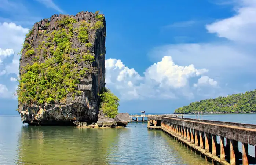
<path id="1" fill-rule="evenodd" d="M 120 129 L 23 126 L 17 164 L 109 164 Z"/>

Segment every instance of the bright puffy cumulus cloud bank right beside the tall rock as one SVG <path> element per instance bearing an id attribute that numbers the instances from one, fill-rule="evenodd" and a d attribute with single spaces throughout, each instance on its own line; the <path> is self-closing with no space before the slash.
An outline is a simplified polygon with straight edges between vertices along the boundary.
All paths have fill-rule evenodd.
<path id="1" fill-rule="evenodd" d="M 117 59 L 107 59 L 105 67 L 107 87 L 128 100 L 193 98 L 189 80 L 208 72 L 207 69 L 196 69 L 192 64 L 176 65 L 171 56 L 164 56 L 160 62 L 148 67 L 143 76 Z"/>

